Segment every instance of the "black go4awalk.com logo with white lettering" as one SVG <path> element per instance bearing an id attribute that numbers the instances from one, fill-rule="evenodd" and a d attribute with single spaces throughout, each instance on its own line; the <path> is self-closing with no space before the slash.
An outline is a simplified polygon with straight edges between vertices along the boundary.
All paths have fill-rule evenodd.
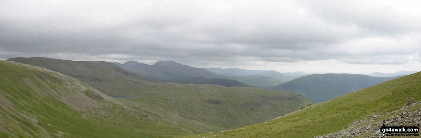
<path id="1" fill-rule="evenodd" d="M 394 127 L 394 126 L 385 126 L 383 120 L 383 126 L 378 129 L 384 136 L 419 136 L 419 128 L 417 126 L 404 126 L 404 127 Z M 382 137 L 382 138 L 383 138 Z"/>

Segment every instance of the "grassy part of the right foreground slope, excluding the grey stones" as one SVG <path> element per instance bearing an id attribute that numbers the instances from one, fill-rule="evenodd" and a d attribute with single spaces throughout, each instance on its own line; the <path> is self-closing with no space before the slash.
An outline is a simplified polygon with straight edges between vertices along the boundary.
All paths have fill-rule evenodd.
<path id="1" fill-rule="evenodd" d="M 407 98 L 415 102 L 421 100 L 421 73 L 397 78 L 376 86 L 346 94 L 336 99 L 306 107 L 289 115 L 264 123 L 246 126 L 224 133 L 185 136 L 185 138 L 312 138 L 317 135 L 337 132 L 347 128 L 352 122 L 385 115 L 407 104 Z M 419 110 L 419 107 L 414 107 Z M 381 122 L 392 115 L 386 114 L 374 122 Z M 421 122 L 420 122 L 421 123 Z M 370 131 L 381 127 L 371 126 Z M 406 126 L 407 124 L 401 124 Z M 378 135 L 381 137 L 381 135 Z"/>

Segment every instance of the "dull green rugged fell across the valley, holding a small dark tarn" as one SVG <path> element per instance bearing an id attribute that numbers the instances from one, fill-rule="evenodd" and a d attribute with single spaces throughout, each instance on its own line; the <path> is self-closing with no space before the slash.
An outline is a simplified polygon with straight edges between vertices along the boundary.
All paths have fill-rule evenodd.
<path id="1" fill-rule="evenodd" d="M 220 131 L 263 122 L 296 111 L 310 101 L 298 93 L 258 88 L 152 82 L 110 62 L 43 57 L 12 58 L 72 76 L 111 96 L 141 103 L 171 125 L 192 133 Z"/>

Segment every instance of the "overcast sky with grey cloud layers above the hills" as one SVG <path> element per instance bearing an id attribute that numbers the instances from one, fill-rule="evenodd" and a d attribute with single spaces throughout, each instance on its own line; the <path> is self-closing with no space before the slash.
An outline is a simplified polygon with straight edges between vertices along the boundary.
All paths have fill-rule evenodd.
<path id="1" fill-rule="evenodd" d="M 420 7 L 420 0 L 0 0 L 0 59 L 421 70 Z"/>

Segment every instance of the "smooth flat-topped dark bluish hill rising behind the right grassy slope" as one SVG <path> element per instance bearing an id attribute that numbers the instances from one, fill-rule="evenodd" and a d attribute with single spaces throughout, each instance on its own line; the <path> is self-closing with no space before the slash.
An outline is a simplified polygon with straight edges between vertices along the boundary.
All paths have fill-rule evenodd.
<path id="1" fill-rule="evenodd" d="M 397 77 L 371 77 L 359 74 L 313 74 L 274 86 L 272 89 L 299 92 L 312 102 L 323 102 Z"/>

